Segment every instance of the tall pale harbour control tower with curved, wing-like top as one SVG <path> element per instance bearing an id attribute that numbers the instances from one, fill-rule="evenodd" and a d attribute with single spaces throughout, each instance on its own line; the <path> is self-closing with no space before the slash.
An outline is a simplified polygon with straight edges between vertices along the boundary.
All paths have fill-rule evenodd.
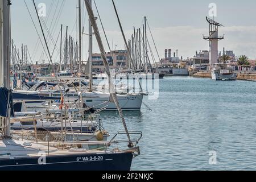
<path id="1" fill-rule="evenodd" d="M 218 36 L 218 27 L 223 27 L 222 24 L 215 22 L 210 18 L 206 18 L 209 23 L 209 36 L 203 36 L 204 40 L 209 41 L 209 64 L 218 63 L 218 41 L 224 39 L 223 36 Z"/>

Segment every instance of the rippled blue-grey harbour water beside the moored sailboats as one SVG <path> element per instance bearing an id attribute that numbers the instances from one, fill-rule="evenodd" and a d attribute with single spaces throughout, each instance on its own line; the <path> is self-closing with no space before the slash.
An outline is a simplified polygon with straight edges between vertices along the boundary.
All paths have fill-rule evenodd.
<path id="1" fill-rule="evenodd" d="M 144 102 L 152 111 L 125 113 L 129 130 L 143 131 L 133 170 L 256 169 L 256 82 L 170 77 Z M 101 114 L 111 134 L 123 130 L 117 115 Z"/>

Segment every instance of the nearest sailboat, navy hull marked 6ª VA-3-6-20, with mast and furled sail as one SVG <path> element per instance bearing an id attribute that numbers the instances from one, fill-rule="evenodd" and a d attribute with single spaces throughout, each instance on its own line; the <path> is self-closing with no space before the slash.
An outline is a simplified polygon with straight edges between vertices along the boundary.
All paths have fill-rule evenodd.
<path id="1" fill-rule="evenodd" d="M 81 5 L 81 0 L 79 2 Z M 34 0 L 33 3 L 35 10 L 37 10 Z M 90 0 L 85 0 L 86 9 L 90 14 L 90 20 L 93 23 L 94 30 L 98 33 L 91 4 Z M 8 47 L 10 43 L 10 6 L 10 1 L 0 0 L 0 10 L 2 11 L 0 13 L 3 15 L 0 20 L 0 86 L 2 86 L 0 89 L 0 126 L 2 129 L 0 133 L 0 171 L 129 171 L 134 156 L 137 156 L 137 153 L 139 154 L 139 148 L 136 147 L 138 140 L 132 140 L 130 138 L 125 120 L 123 119 L 122 110 L 119 109 L 115 94 L 113 94 L 113 100 L 117 104 L 126 130 L 125 134 L 128 137 L 129 149 L 127 150 L 109 150 L 111 144 L 114 142 L 119 143 L 114 138 L 110 142 L 101 143 L 106 146 L 105 150 L 102 151 L 88 151 L 84 148 L 75 148 L 75 146 L 83 144 L 82 142 L 52 143 L 48 140 L 48 142 L 37 143 L 12 138 L 10 133 L 10 118 L 11 115 L 13 117 L 15 116 L 9 80 L 10 56 Z M 39 15 L 38 20 L 40 23 Z M 6 69 L 3 70 L 3 68 Z M 108 68 L 108 65 L 106 65 L 106 68 Z M 133 142 L 136 144 L 134 145 Z"/>

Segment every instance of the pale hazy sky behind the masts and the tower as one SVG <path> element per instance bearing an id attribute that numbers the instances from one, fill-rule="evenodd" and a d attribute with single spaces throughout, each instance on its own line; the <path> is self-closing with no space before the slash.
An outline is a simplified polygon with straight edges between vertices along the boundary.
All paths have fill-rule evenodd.
<path id="1" fill-rule="evenodd" d="M 47 60 L 46 53 L 43 54 L 43 46 L 36 32 L 37 29 L 42 38 L 35 8 L 31 0 L 25 1 L 29 11 L 24 0 L 11 1 L 13 3 L 11 6 L 12 38 L 16 47 L 21 47 L 22 44 L 27 45 L 33 61 Z M 112 0 L 95 0 L 95 2 L 100 12 L 110 47 L 124 49 L 125 43 L 114 13 Z M 47 29 L 51 32 L 52 40 L 48 38 L 45 27 L 44 32 L 47 36 L 50 52 L 55 50 L 53 61 L 57 61 L 59 59 L 60 38 L 56 43 L 56 49 L 54 47 L 59 37 L 61 24 L 64 27 L 63 34 L 65 27 L 68 26 L 68 35 L 72 35 L 73 38 L 77 39 L 77 0 L 35 0 L 35 3 L 37 6 L 39 3 L 46 4 L 46 17 L 43 17 L 42 20 L 47 24 Z M 219 51 L 222 51 L 223 47 L 225 47 L 226 50 L 233 50 L 237 56 L 246 55 L 250 59 L 256 59 L 256 14 L 254 10 L 256 1 L 254 0 L 115 0 L 126 39 L 130 39 L 131 34 L 133 34 L 133 27 L 142 28 L 143 16 L 147 16 L 161 58 L 164 57 L 164 49 L 166 48 L 178 49 L 179 56 L 183 56 L 183 58 L 193 57 L 196 51 L 209 49 L 208 42 L 203 40 L 203 34 L 208 35 L 209 26 L 205 16 L 209 14 L 210 3 L 216 3 L 217 5 L 217 16 L 214 19 L 224 25 L 219 29 L 220 35 L 225 34 L 225 39 L 219 43 Z M 95 6 L 93 7 L 97 16 Z M 82 1 L 82 15 L 84 32 L 88 33 L 88 15 L 86 15 L 84 1 Z M 108 51 L 99 20 L 97 22 L 102 33 L 105 50 Z M 82 59 L 86 60 L 89 40 L 87 35 L 82 37 Z M 153 48 L 154 44 L 152 44 L 149 31 L 148 39 Z M 93 52 L 98 52 L 95 40 Z M 155 49 L 154 55 L 158 57 Z"/>

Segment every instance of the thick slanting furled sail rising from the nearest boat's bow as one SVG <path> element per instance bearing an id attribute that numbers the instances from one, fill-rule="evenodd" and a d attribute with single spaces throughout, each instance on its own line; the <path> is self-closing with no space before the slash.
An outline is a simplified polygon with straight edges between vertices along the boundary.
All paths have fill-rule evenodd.
<path id="1" fill-rule="evenodd" d="M 115 93 L 115 86 L 113 84 L 113 78 L 110 75 L 109 63 L 108 63 L 108 60 L 106 58 L 105 49 L 104 49 L 104 46 L 103 46 L 103 43 L 102 43 L 102 40 L 101 40 L 101 36 L 100 36 L 100 32 L 98 30 L 96 20 L 94 18 L 94 14 L 93 14 L 93 10 L 92 10 L 90 1 L 91 0 L 85 0 L 85 6 L 86 6 L 86 9 L 87 9 L 89 18 L 90 18 L 90 22 L 92 23 L 92 27 L 93 27 L 94 34 L 95 34 L 95 37 L 96 37 L 96 40 L 97 40 L 97 43 L 98 43 L 98 47 L 100 48 L 101 57 L 102 57 L 102 60 L 103 60 L 104 66 L 105 66 L 106 75 L 108 75 L 109 87 L 110 87 L 110 98 L 112 97 L 115 106 L 117 106 L 117 110 L 118 110 L 119 115 L 121 117 L 123 127 L 125 128 L 127 138 L 129 139 L 128 147 L 132 148 L 133 143 L 131 142 L 131 138 L 130 138 L 129 131 L 128 131 L 127 126 L 126 126 L 125 118 L 123 117 L 123 111 L 122 111 L 121 107 L 119 106 L 117 94 Z"/>

